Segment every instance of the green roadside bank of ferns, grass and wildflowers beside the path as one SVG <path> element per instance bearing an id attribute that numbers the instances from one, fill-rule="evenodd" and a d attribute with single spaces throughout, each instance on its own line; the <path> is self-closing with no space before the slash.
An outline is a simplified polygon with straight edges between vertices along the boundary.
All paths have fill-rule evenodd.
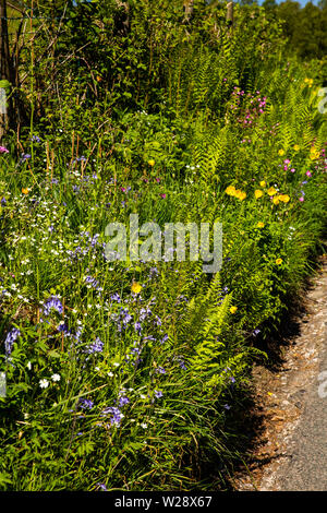
<path id="1" fill-rule="evenodd" d="M 223 489 L 325 228 L 322 63 L 257 5 L 63 3 L 36 2 L 0 150 L 0 487 Z M 108 262 L 131 213 L 221 222 L 220 272 Z"/>

